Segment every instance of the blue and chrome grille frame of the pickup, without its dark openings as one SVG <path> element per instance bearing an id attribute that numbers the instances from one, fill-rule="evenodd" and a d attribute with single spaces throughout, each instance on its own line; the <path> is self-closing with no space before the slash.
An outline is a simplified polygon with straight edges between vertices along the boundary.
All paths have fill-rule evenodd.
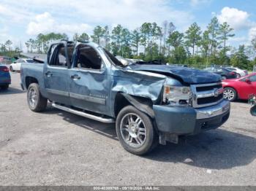
<path id="1" fill-rule="evenodd" d="M 211 97 L 217 97 L 220 94 L 223 95 L 222 87 L 221 88 L 213 87 L 212 90 L 197 92 L 197 87 L 209 87 L 209 86 L 216 86 L 216 85 L 222 85 L 222 83 L 218 82 L 218 83 L 202 84 L 202 85 L 190 85 L 191 90 L 192 90 L 192 106 L 194 108 L 200 108 L 200 107 L 213 106 L 213 105 L 219 104 L 223 100 L 223 97 L 221 99 L 219 99 L 219 101 L 209 102 L 207 104 L 197 104 L 198 98 L 211 98 Z"/>

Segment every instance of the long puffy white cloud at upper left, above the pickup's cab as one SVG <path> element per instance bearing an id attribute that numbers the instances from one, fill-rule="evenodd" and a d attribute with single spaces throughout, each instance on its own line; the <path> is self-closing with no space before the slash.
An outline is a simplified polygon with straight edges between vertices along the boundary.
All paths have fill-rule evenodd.
<path id="1" fill-rule="evenodd" d="M 86 23 L 59 23 L 49 12 L 36 15 L 27 27 L 26 33 L 37 35 L 39 33 L 60 32 L 66 34 L 82 33 L 91 30 L 91 26 Z"/>

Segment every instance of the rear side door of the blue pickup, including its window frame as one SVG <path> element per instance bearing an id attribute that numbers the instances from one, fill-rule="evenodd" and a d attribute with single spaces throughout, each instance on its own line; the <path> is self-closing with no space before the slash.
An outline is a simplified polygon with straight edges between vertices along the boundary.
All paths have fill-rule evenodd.
<path id="1" fill-rule="evenodd" d="M 67 42 L 52 44 L 44 68 L 44 79 L 48 99 L 59 104 L 70 105 L 68 77 L 70 58 L 68 55 Z"/>

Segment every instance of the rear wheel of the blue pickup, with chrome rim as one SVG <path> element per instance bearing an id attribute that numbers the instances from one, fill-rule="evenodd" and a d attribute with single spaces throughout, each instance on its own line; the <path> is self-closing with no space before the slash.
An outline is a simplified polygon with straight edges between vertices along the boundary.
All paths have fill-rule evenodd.
<path id="1" fill-rule="evenodd" d="M 29 104 L 29 109 L 33 112 L 42 112 L 47 106 L 47 98 L 42 97 L 39 91 L 39 85 L 37 83 L 32 83 L 29 85 L 27 91 L 27 101 Z"/>

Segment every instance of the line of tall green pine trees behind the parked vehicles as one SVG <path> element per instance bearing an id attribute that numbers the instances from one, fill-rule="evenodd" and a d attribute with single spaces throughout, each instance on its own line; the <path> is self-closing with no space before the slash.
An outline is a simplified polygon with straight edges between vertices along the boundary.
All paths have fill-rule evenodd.
<path id="1" fill-rule="evenodd" d="M 210 65 L 232 65 L 241 69 L 252 69 L 256 64 L 256 34 L 250 45 L 241 44 L 238 48 L 228 45 L 235 36 L 228 23 L 219 23 L 213 17 L 203 31 L 197 23 L 181 33 L 172 22 L 143 23 L 130 31 L 120 24 L 110 29 L 108 26 L 96 26 L 93 34 L 74 34 L 72 40 L 92 41 L 110 50 L 114 55 L 124 58 L 139 58 L 144 61 L 162 60 L 167 63 L 187 64 L 193 67 Z M 26 42 L 28 52 L 45 53 L 51 42 L 68 39 L 67 34 L 38 34 L 36 39 Z M 9 50 L 12 42 L 1 44 Z"/>

